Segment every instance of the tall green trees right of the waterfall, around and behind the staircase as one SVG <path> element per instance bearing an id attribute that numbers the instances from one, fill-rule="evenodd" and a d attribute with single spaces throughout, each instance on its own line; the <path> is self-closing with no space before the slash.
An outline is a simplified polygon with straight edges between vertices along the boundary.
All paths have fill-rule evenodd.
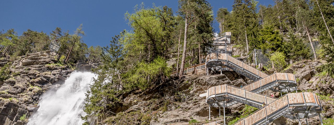
<path id="1" fill-rule="evenodd" d="M 254 0 L 235 0 L 232 11 L 220 8 L 215 19 L 219 33 L 232 32 L 233 47 L 245 50 L 243 55 L 253 49 L 268 50 L 267 56 L 278 61 L 276 70 L 286 68 L 285 59 L 324 59 L 327 63 L 321 71 L 333 75 L 333 2 L 277 0 L 275 5 L 263 6 Z M 95 70 L 99 78 L 88 92 L 88 121 L 149 124 L 154 111 L 124 114 L 123 99 L 161 86 L 172 70 L 199 64 L 212 44 L 214 17 L 204 0 L 180 0 L 176 13 L 167 6 L 139 5 L 125 18 L 132 30 L 113 38 L 102 56 L 105 65 Z M 320 41 L 322 48 L 310 51 L 306 44 L 313 41 Z M 183 70 L 181 79 L 182 74 Z"/>

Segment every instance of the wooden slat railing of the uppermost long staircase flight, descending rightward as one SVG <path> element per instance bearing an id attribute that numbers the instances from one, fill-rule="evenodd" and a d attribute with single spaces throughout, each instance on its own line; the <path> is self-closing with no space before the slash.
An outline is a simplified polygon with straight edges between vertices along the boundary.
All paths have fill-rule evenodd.
<path id="1" fill-rule="evenodd" d="M 264 78 L 264 77 L 267 77 L 268 74 L 246 64 L 246 63 L 243 63 L 242 61 L 238 60 L 238 59 L 235 59 L 234 57 L 226 54 L 226 53 L 211 53 L 209 55 L 206 56 L 206 62 L 209 62 L 210 60 L 212 59 L 217 59 L 219 61 L 225 61 L 225 62 L 228 62 L 228 63 L 233 63 L 239 67 L 241 67 L 243 70 L 247 70 L 249 72 L 252 72 L 253 74 L 255 75 L 258 75 L 260 76 L 261 78 Z"/>

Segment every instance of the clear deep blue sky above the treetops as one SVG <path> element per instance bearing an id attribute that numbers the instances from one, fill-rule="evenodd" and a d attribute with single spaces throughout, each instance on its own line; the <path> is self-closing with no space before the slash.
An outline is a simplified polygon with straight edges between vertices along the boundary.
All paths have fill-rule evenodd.
<path id="1" fill-rule="evenodd" d="M 123 29 L 130 30 L 124 13 L 133 12 L 136 4 L 144 2 L 146 7 L 171 7 L 177 11 L 177 0 L 1 0 L 0 30 L 14 28 L 18 35 L 31 29 L 49 34 L 56 27 L 73 33 L 82 23 L 83 42 L 88 46 L 109 45 L 111 37 Z M 233 0 L 208 0 L 214 15 L 218 8 L 232 10 Z M 273 0 L 260 0 L 259 5 L 273 4 Z M 215 16 L 214 16 L 215 17 Z M 219 31 L 214 22 L 215 32 Z"/>

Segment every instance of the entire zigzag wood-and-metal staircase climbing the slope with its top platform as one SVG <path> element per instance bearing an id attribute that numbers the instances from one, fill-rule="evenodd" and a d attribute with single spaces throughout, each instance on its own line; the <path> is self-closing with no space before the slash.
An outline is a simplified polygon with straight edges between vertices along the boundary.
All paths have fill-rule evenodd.
<path id="1" fill-rule="evenodd" d="M 187 74 L 209 75 L 209 70 L 220 71 L 233 70 L 251 80 L 253 83 L 242 88 L 230 85 L 219 85 L 210 87 L 206 93 L 200 97 L 206 97 L 209 105 L 209 120 L 211 119 L 211 107 L 223 107 L 224 123 L 211 122 L 204 125 L 225 125 L 225 107 L 236 103 L 243 103 L 259 108 L 254 113 L 240 119 L 233 125 L 264 125 L 283 116 L 289 119 L 311 118 L 319 116 L 322 124 L 320 112 L 323 110 L 318 96 L 311 92 L 297 93 L 297 80 L 291 73 L 274 73 L 268 75 L 256 67 L 252 67 L 231 56 L 230 44 L 231 33 L 226 32 L 222 37 L 213 41 L 213 47 L 207 48 L 208 55 L 205 63 L 185 68 Z M 204 71 L 203 71 L 204 70 Z M 176 72 L 174 72 L 176 73 Z M 280 98 L 274 98 L 260 94 L 263 91 L 272 90 L 281 92 Z M 296 91 L 296 93 L 291 93 Z M 282 93 L 287 93 L 282 95 Z M 307 120 L 306 120 L 306 124 Z"/>

